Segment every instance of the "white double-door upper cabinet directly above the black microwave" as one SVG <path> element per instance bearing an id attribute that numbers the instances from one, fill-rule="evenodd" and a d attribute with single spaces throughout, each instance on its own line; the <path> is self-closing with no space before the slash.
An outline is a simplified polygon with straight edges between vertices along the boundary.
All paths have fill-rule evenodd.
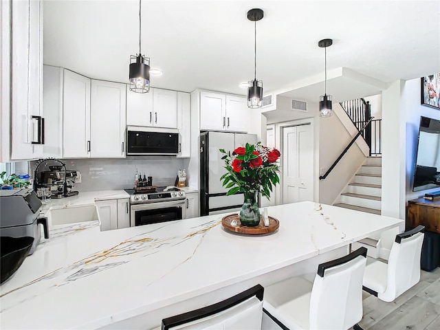
<path id="1" fill-rule="evenodd" d="M 126 87 L 126 124 L 177 129 L 177 91 L 150 89 L 135 93 Z"/>

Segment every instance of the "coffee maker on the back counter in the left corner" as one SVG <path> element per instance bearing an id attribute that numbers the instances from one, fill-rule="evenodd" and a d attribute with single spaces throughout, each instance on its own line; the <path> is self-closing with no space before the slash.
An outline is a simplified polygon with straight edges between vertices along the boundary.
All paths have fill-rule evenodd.
<path id="1" fill-rule="evenodd" d="M 78 191 L 72 190 L 76 175 L 76 170 L 67 170 L 61 160 L 55 158 L 43 159 L 37 164 L 34 172 L 36 195 L 38 197 L 45 195 L 45 197 L 50 198 L 78 195 Z"/>

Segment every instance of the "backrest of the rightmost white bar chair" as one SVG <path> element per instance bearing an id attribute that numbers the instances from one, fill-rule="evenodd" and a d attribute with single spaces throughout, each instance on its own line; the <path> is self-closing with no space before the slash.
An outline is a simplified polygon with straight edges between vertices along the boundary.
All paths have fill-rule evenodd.
<path id="1" fill-rule="evenodd" d="M 383 299 L 393 301 L 420 281 L 421 246 L 425 227 L 419 225 L 396 236 L 388 259 L 386 292 Z"/>

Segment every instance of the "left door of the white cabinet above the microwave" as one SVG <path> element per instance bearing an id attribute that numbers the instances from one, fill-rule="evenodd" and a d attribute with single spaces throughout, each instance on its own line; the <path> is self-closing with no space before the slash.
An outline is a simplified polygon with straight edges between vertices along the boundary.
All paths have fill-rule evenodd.
<path id="1" fill-rule="evenodd" d="M 127 126 L 153 125 L 153 91 L 135 93 L 126 85 L 126 124 Z"/>

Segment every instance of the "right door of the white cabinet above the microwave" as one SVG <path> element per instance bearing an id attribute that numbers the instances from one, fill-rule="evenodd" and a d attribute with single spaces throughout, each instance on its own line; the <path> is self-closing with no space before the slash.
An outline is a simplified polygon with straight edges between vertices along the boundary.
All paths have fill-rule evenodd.
<path id="1" fill-rule="evenodd" d="M 153 126 L 177 129 L 177 91 L 153 88 Z"/>

